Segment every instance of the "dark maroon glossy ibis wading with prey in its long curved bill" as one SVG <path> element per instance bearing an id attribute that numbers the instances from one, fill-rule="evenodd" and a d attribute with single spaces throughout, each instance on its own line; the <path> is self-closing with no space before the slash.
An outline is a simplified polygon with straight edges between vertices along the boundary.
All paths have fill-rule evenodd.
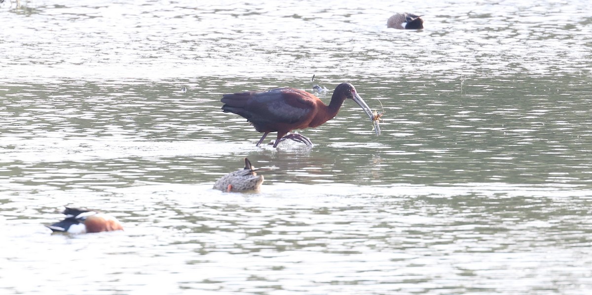
<path id="1" fill-rule="evenodd" d="M 374 120 L 372 110 L 350 83 L 341 83 L 335 87 L 329 105 L 325 105 L 316 96 L 304 90 L 285 87 L 266 92 L 247 91 L 225 94 L 222 98 L 224 103 L 222 111 L 243 116 L 257 131 L 263 132 L 263 137 L 256 145 L 263 142 L 269 132 L 278 132 L 274 147 L 285 139 L 312 145 L 312 142 L 303 135 L 288 134 L 288 132 L 324 124 L 337 115 L 343 101 L 348 98 L 358 103 L 372 121 L 376 135 L 380 135 L 380 127 Z"/>

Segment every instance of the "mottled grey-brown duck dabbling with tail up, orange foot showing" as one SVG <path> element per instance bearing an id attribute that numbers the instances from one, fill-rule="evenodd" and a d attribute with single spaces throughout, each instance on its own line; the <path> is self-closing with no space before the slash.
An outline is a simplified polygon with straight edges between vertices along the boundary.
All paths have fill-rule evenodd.
<path id="1" fill-rule="evenodd" d="M 226 174 L 214 183 L 214 189 L 224 192 L 259 192 L 263 183 L 263 176 L 257 176 L 256 169 L 249 159 L 244 158 L 244 168 Z"/>

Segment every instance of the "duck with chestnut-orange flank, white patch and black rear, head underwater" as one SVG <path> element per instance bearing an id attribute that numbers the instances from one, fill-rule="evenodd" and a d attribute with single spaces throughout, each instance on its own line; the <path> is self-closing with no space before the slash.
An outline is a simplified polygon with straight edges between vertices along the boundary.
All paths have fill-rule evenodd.
<path id="1" fill-rule="evenodd" d="M 123 231 L 123 226 L 116 218 L 104 213 L 67 207 L 63 213 L 66 219 L 46 225 L 53 232 L 85 234 L 86 232 Z"/>

